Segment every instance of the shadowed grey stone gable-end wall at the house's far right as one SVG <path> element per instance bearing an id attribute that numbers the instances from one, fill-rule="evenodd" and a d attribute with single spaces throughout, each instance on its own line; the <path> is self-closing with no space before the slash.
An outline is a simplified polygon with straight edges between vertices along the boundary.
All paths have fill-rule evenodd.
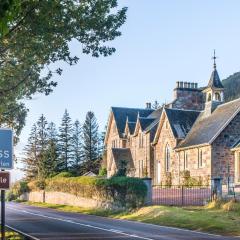
<path id="1" fill-rule="evenodd" d="M 240 113 L 229 123 L 212 144 L 212 178 L 221 177 L 223 184 L 228 177 L 234 181 L 235 159 L 231 147 L 239 140 Z"/>

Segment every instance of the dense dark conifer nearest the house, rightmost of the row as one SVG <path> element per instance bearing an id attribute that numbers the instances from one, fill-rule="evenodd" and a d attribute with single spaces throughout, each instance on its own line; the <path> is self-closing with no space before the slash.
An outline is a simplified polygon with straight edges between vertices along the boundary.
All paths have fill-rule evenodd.
<path id="1" fill-rule="evenodd" d="M 99 152 L 98 152 L 99 134 L 97 119 L 93 112 L 87 112 L 83 124 L 83 159 L 85 171 L 98 173 Z"/>

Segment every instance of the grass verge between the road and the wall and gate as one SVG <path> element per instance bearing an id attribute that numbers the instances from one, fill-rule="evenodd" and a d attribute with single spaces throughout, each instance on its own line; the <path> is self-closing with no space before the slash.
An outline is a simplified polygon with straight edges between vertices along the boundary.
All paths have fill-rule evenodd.
<path id="1" fill-rule="evenodd" d="M 240 203 L 211 203 L 206 207 L 150 206 L 132 212 L 114 212 L 102 209 L 86 209 L 46 203 L 26 204 L 56 210 L 93 214 L 215 233 L 240 236 Z"/>

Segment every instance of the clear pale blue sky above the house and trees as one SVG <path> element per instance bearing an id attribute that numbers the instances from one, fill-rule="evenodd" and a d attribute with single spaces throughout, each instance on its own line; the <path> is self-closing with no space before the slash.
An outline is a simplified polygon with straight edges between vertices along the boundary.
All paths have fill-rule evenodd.
<path id="1" fill-rule="evenodd" d="M 42 113 L 58 125 L 65 109 L 81 122 L 92 110 L 103 129 L 110 106 L 167 102 L 176 81 L 206 85 L 213 49 L 220 78 L 240 70 L 239 0 L 119 0 L 119 6 L 127 6 L 128 12 L 122 36 L 109 43 L 117 52 L 92 58 L 71 43 L 80 61 L 73 67 L 61 65 L 63 75 L 54 79 L 59 84 L 50 96 L 27 102 L 30 111 L 18 155 Z"/>

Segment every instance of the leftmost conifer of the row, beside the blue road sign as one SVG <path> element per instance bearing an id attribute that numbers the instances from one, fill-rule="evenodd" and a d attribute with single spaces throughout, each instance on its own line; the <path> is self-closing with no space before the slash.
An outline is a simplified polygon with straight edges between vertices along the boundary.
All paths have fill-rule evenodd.
<path id="1" fill-rule="evenodd" d="M 27 179 L 33 179 L 39 175 L 39 161 L 38 161 L 38 135 L 37 126 L 32 126 L 28 143 L 24 148 L 25 157 L 22 159 L 23 171 Z"/>

